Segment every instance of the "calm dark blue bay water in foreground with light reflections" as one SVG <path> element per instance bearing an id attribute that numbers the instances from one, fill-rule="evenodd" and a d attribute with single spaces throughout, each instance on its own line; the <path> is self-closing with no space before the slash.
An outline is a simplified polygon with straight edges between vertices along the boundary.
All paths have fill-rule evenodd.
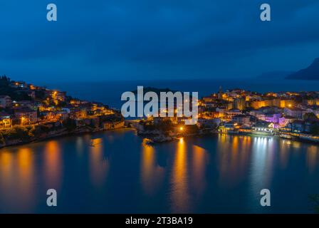
<path id="1" fill-rule="evenodd" d="M 317 145 L 210 135 L 150 147 L 123 129 L 1 149 L 0 212 L 313 212 L 318 180 Z"/>

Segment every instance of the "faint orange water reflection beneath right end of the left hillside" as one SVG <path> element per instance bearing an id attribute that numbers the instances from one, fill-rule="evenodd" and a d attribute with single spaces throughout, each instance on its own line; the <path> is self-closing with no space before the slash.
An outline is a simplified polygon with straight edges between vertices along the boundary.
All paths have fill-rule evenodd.
<path id="1" fill-rule="evenodd" d="M 103 154 L 103 139 L 95 138 L 90 144 L 90 177 L 94 185 L 100 186 L 108 174 L 108 160 Z"/>

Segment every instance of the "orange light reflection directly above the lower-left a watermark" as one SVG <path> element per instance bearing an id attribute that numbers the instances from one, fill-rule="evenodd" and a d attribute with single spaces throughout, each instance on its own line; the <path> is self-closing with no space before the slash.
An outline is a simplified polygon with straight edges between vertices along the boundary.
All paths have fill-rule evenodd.
<path id="1" fill-rule="evenodd" d="M 61 147 L 58 141 L 51 140 L 46 143 L 44 148 L 44 162 L 46 169 L 46 182 L 49 188 L 59 189 L 61 185 L 62 158 Z"/>

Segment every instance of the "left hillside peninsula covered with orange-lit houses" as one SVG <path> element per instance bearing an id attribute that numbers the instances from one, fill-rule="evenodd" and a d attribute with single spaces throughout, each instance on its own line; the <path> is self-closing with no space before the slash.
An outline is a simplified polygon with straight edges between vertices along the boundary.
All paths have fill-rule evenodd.
<path id="1" fill-rule="evenodd" d="M 122 115 L 103 103 L 0 77 L 0 147 L 123 125 Z"/>

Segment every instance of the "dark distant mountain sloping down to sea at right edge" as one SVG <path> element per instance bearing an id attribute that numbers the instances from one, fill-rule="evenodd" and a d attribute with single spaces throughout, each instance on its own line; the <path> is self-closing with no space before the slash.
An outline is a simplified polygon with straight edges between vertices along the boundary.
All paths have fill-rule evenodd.
<path id="1" fill-rule="evenodd" d="M 308 68 L 292 73 L 286 79 L 319 80 L 319 58 L 315 58 Z"/>

